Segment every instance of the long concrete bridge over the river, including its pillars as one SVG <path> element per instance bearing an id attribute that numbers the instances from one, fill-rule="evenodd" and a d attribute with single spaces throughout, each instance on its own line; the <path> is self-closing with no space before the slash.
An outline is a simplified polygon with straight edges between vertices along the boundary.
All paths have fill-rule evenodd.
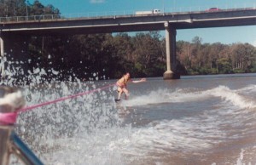
<path id="1" fill-rule="evenodd" d="M 4 58 L 16 61 L 26 59 L 29 37 L 126 31 L 166 31 L 164 79 L 174 79 L 180 77 L 176 71 L 177 29 L 253 25 L 256 25 L 256 8 L 71 19 L 61 18 L 59 15 L 3 17 L 0 18 L 1 59 L 2 61 Z M 22 63 L 23 68 L 26 68 L 26 65 L 26 62 Z M 6 67 L 6 65 L 1 65 L 2 76 L 4 76 Z"/>

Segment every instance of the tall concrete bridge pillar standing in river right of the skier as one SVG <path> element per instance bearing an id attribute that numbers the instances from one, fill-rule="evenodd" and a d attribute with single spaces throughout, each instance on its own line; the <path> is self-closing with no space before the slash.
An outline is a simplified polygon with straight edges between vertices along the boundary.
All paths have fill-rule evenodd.
<path id="1" fill-rule="evenodd" d="M 164 80 L 179 79 L 180 75 L 176 71 L 176 29 L 168 22 L 166 27 L 166 69 Z"/>

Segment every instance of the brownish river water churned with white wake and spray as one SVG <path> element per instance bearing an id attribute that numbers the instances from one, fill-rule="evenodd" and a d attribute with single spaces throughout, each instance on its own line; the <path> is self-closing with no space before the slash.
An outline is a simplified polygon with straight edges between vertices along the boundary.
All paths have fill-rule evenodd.
<path id="1" fill-rule="evenodd" d="M 115 81 L 26 87 L 27 105 Z M 20 114 L 15 131 L 45 164 L 256 164 L 256 74 L 128 84 Z"/>

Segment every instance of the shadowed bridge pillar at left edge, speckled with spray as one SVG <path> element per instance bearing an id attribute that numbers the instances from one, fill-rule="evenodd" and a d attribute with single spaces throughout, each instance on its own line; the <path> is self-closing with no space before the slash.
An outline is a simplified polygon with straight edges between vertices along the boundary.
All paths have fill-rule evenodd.
<path id="1" fill-rule="evenodd" d="M 0 71 L 2 78 L 26 77 L 28 71 L 29 37 L 17 34 L 0 35 Z"/>

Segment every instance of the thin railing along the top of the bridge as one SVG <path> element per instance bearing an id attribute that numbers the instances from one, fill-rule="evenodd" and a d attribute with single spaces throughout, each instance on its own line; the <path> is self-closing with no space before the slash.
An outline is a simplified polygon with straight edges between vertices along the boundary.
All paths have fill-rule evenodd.
<path id="1" fill-rule="evenodd" d="M 243 4 L 242 6 L 233 5 L 233 6 L 204 6 L 204 7 L 183 7 L 183 8 L 163 8 L 161 13 L 193 13 L 193 12 L 207 12 L 210 8 L 218 8 L 224 10 L 241 10 L 241 9 L 256 9 L 256 3 L 253 4 Z M 147 10 L 147 9 L 145 9 Z M 142 10 L 143 11 L 143 10 Z M 216 11 L 216 12 L 218 12 Z M 125 11 L 102 11 L 102 12 L 86 12 L 86 13 L 77 13 L 77 14 L 44 14 L 44 15 L 27 15 L 27 16 L 6 16 L 0 17 L 0 23 L 11 23 L 11 22 L 24 22 L 24 21 L 44 21 L 44 20 L 74 20 L 74 19 L 91 19 L 91 18 L 111 18 L 115 16 L 126 16 L 126 15 L 136 15 L 134 10 L 125 10 Z"/>

